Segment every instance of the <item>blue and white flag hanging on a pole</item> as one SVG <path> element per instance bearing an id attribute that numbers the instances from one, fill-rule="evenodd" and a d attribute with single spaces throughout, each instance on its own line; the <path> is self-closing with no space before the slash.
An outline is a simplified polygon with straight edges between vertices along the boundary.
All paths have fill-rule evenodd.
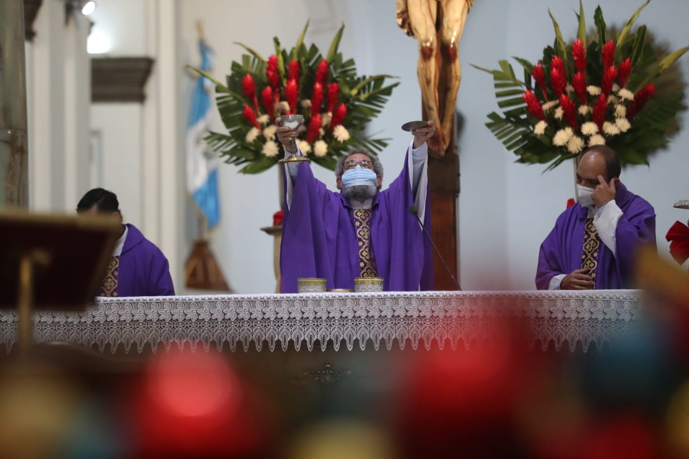
<path id="1" fill-rule="evenodd" d="M 203 40 L 198 41 L 198 48 L 201 54 L 200 70 L 209 72 L 212 67 L 212 50 Z M 213 104 L 210 90 L 213 87 L 214 84 L 208 78 L 200 76 L 196 80 L 185 140 L 187 191 L 194 199 L 198 210 L 203 213 L 208 229 L 214 228 L 220 222 L 218 158 L 203 140 L 211 127 Z"/>

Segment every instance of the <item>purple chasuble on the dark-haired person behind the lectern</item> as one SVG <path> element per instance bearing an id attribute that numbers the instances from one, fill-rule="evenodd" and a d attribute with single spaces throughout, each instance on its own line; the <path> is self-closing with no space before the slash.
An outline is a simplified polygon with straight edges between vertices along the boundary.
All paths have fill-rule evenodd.
<path id="1" fill-rule="evenodd" d="M 143 237 L 136 226 L 129 228 L 109 297 L 165 297 L 174 295 L 167 259 L 161 249 Z M 111 261 L 112 268 L 112 261 Z M 108 270 L 108 276 L 110 269 Z M 107 281 L 108 277 L 106 277 Z"/>

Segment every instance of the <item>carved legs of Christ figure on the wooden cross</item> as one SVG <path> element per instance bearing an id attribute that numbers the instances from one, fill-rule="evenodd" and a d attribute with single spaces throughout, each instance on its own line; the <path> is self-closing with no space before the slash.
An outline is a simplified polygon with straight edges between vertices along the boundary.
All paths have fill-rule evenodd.
<path id="1" fill-rule="evenodd" d="M 433 156 L 444 155 L 453 134 L 455 103 L 462 79 L 457 54 L 473 1 L 397 0 L 397 23 L 419 44 L 418 78 L 424 114 L 440 127 L 428 141 Z"/>

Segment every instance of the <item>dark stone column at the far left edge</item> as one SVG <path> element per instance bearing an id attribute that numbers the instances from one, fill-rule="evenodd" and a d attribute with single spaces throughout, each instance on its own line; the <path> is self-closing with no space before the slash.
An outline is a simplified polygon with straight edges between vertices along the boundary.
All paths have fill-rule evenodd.
<path id="1" fill-rule="evenodd" d="M 0 1 L 0 206 L 28 206 L 23 0 Z"/>

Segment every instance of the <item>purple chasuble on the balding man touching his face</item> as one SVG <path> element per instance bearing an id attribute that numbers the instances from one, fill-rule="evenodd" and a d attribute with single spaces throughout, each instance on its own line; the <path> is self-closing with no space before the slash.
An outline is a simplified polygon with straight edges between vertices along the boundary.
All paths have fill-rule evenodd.
<path id="1" fill-rule="evenodd" d="M 639 244 L 655 248 L 655 211 L 653 207 L 626 186 L 617 184 L 615 202 L 622 211 L 615 230 L 615 253 L 601 241 L 598 250 L 595 288 L 597 290 L 634 288 L 633 264 Z M 548 290 L 555 275 L 568 275 L 582 268 L 584 226 L 588 209 L 571 206 L 557 217 L 555 228 L 546 237 L 538 255 L 536 288 Z"/>

